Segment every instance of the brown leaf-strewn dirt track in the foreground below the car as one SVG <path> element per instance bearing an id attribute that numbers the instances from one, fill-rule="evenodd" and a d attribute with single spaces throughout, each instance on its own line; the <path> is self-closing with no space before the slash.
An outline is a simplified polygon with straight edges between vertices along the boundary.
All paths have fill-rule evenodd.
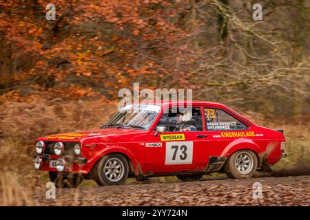
<path id="1" fill-rule="evenodd" d="M 252 197 L 254 182 L 262 199 Z M 45 192 L 34 192 L 35 206 L 310 206 L 310 175 L 57 189 L 56 199 Z"/>

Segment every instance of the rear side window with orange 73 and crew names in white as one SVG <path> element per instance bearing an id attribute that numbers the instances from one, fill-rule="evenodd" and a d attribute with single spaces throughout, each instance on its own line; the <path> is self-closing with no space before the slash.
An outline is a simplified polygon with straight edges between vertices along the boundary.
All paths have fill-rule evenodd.
<path id="1" fill-rule="evenodd" d="M 244 130 L 248 126 L 222 109 L 204 108 L 207 131 Z"/>

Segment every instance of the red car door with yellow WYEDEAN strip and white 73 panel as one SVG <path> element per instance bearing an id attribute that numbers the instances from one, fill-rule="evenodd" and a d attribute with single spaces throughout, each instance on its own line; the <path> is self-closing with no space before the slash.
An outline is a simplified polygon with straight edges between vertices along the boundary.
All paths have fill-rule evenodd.
<path id="1" fill-rule="evenodd" d="M 175 117 L 165 113 L 157 126 L 165 126 L 165 133 L 151 131 L 145 142 L 145 168 L 149 174 L 201 171 L 207 165 L 205 151 L 206 134 L 200 107 L 193 107 L 196 131 L 174 131 Z"/>

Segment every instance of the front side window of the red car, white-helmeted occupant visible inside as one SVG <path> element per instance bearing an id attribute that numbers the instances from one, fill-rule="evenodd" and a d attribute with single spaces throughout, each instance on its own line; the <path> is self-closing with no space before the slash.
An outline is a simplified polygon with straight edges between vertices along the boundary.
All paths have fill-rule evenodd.
<path id="1" fill-rule="evenodd" d="M 174 112 L 169 109 L 169 113 L 161 116 L 157 126 L 165 126 L 166 131 L 203 131 L 203 120 L 199 107 L 193 107 L 192 112 L 183 113 L 183 111 Z"/>

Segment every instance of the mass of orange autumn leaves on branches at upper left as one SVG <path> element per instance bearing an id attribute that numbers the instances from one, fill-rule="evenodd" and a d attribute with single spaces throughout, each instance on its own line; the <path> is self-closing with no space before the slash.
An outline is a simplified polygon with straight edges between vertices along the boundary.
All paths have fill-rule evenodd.
<path id="1" fill-rule="evenodd" d="M 186 34 L 176 21 L 187 3 L 56 1 L 56 21 L 45 19 L 45 5 L 1 2 L 0 31 L 17 61 L 10 85 L 30 93 L 69 92 L 74 98 L 99 91 L 115 98 L 115 89 L 129 87 L 132 79 L 167 76 L 169 69 L 157 60 L 167 60 L 164 52 Z M 152 59 L 154 54 L 162 55 Z"/>

